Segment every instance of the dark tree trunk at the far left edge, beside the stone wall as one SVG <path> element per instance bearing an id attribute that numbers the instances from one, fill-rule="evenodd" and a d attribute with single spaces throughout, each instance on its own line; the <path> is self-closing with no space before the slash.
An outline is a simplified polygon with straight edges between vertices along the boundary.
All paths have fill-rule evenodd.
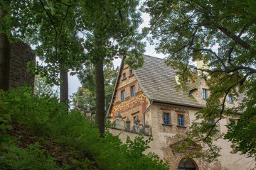
<path id="1" fill-rule="evenodd" d="M 3 18 L 7 12 L 0 8 L 0 17 Z M 0 19 L 1 19 L 0 18 Z M 0 89 L 9 90 L 11 45 L 7 35 L 0 33 Z"/>

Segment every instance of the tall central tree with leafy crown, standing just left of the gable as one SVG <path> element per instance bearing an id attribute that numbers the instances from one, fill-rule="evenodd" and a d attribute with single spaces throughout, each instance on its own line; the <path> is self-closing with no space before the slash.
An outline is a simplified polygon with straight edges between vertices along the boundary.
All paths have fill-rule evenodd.
<path id="1" fill-rule="evenodd" d="M 139 1 L 82 1 L 82 21 L 86 27 L 85 49 L 95 67 L 96 114 L 95 124 L 101 135 L 105 131 L 105 87 L 103 62 L 113 57 L 128 56 L 132 69 L 143 64 L 144 33 L 137 28 L 142 23 L 137 5 Z M 90 20 L 88 20 L 90 18 Z"/>

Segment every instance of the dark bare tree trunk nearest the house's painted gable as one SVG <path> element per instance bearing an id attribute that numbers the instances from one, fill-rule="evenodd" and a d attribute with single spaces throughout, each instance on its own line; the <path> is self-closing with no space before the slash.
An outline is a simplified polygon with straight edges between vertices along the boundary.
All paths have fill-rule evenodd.
<path id="1" fill-rule="evenodd" d="M 105 87 L 103 74 L 103 61 L 100 60 L 95 64 L 95 84 L 96 84 L 96 115 L 95 124 L 103 137 L 105 132 Z"/>

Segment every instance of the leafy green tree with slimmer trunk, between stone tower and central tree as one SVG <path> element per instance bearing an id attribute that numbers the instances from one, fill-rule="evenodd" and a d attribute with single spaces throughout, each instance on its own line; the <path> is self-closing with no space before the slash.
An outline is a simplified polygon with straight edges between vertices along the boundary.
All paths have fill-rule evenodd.
<path id="1" fill-rule="evenodd" d="M 38 66 L 35 73 L 55 84 L 60 84 L 56 80 L 61 73 L 60 102 L 68 104 L 68 71 L 77 70 L 86 57 L 74 27 L 79 8 L 65 2 L 69 1 L 1 1 L 1 8 L 8 13 L 1 19 L 0 31 L 8 33 L 10 40 L 36 46 L 36 55 L 46 66 Z"/>

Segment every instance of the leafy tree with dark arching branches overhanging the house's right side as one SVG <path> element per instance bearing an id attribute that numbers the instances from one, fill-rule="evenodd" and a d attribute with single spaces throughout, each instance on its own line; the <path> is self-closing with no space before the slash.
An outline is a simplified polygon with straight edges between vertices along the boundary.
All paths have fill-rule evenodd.
<path id="1" fill-rule="evenodd" d="M 203 0 L 149 0 L 143 10 L 150 14 L 151 42 L 163 52 L 167 63 L 178 69 L 183 89 L 191 77 L 188 64 L 203 60 L 210 69 L 201 71 L 210 86 L 206 108 L 196 115 L 201 123 L 193 122 L 188 132 L 188 145 L 201 142 L 208 146 L 208 160 L 218 156 L 218 130 L 213 130 L 221 119 L 242 113 L 235 127 L 228 125 L 224 138 L 233 142 L 235 151 L 248 157 L 256 154 L 256 1 L 203 1 Z M 214 50 L 218 47 L 218 50 Z M 237 108 L 225 107 L 228 95 L 238 98 L 245 94 Z M 215 120 L 214 125 L 209 125 Z M 198 152 L 192 152 L 197 157 Z"/>

